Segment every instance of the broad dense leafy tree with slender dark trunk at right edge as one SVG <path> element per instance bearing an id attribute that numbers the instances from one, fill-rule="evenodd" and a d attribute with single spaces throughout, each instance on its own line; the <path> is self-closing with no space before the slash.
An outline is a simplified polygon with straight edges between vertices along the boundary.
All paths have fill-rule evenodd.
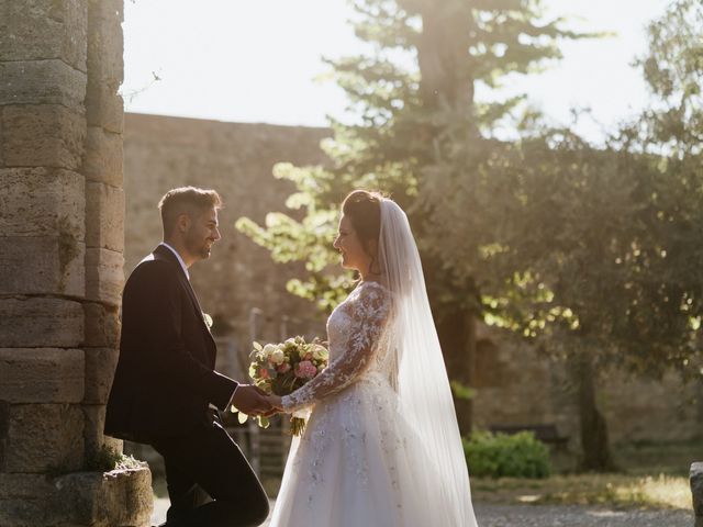
<path id="1" fill-rule="evenodd" d="M 701 9 L 673 2 L 650 25 L 640 64 L 658 97 L 605 148 L 543 130 L 488 156 L 465 144 L 436 158 L 451 177 L 431 200 L 433 247 L 483 279 L 490 321 L 567 359 L 589 470 L 614 467 L 599 372 L 700 373 Z"/>

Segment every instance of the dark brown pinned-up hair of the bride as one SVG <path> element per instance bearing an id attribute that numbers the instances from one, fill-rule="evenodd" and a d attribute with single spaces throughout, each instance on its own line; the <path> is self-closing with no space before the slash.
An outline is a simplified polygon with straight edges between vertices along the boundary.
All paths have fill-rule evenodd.
<path id="1" fill-rule="evenodd" d="M 381 201 L 383 194 L 355 190 L 342 202 L 342 213 L 349 218 L 364 251 L 371 257 L 371 269 L 378 267 L 378 238 L 381 233 Z M 373 247 L 371 244 L 373 243 Z M 378 272 L 378 271 L 377 271 Z"/>

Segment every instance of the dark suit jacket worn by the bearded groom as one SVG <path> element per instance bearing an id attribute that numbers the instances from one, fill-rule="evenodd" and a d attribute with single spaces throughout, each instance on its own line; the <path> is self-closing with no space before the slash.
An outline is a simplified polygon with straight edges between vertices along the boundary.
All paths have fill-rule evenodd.
<path id="1" fill-rule="evenodd" d="M 237 385 L 214 371 L 215 343 L 176 255 L 159 245 L 124 287 L 120 359 L 105 434 L 152 442 L 212 424 Z"/>

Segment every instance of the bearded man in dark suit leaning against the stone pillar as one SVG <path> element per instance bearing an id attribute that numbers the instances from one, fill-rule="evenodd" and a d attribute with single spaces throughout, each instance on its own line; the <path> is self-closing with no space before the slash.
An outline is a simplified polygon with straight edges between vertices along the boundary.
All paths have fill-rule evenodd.
<path id="1" fill-rule="evenodd" d="M 214 190 L 168 191 L 159 203 L 164 243 L 134 269 L 122 299 L 105 434 L 164 457 L 168 527 L 256 526 L 268 516 L 261 484 L 211 405 L 249 415 L 271 407 L 255 386 L 214 371 L 215 343 L 189 281 L 190 266 L 220 239 L 221 206 Z"/>

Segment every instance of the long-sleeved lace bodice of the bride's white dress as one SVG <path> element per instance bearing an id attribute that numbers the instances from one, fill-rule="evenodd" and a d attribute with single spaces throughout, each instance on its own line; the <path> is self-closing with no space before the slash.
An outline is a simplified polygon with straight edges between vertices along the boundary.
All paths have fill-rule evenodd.
<path id="1" fill-rule="evenodd" d="M 386 369 L 382 335 L 390 316 L 388 290 L 362 282 L 327 319 L 330 366 L 304 386 L 282 397 L 287 412 L 311 405 L 339 392 L 372 369 Z"/>

